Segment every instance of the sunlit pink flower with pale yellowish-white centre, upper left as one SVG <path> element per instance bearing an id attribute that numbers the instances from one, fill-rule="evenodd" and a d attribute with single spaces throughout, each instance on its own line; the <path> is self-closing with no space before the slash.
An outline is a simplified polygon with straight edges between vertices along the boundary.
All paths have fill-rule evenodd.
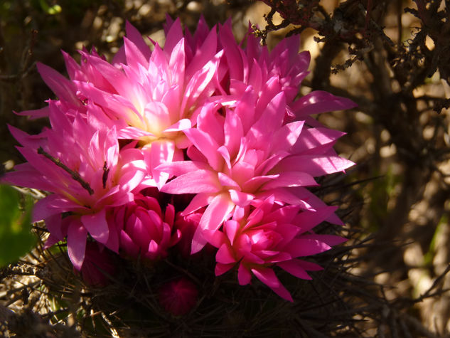
<path id="1" fill-rule="evenodd" d="M 183 130 L 195 125 L 199 108 L 215 91 L 221 52 L 216 53 L 213 29 L 205 36 L 201 52 L 190 55 L 179 20 L 167 31 L 164 48 L 154 45 L 151 51 L 127 22 L 124 46 L 113 63 L 95 51 L 80 51 L 80 65 L 64 53 L 70 80 L 45 65 L 38 64 L 38 70 L 66 105 L 95 104 L 103 113 L 102 123 L 117 127 L 119 139 L 139 141 L 153 184 L 161 187 L 168 174 L 155 168 L 183 159 L 182 149 L 189 145 Z"/>

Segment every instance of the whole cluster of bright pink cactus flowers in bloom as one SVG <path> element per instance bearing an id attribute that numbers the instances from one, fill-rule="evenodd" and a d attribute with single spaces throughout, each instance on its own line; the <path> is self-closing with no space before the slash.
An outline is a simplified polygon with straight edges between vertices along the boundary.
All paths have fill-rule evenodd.
<path id="1" fill-rule="evenodd" d="M 69 78 L 38 64 L 58 99 L 21 113 L 48 117 L 41 134 L 10 127 L 27 162 L 6 181 L 49 192 L 33 219 L 45 221 L 46 247 L 67 241 L 83 276 L 105 248 L 154 262 L 209 243 L 216 275 L 237 268 L 241 285 L 255 275 L 292 300 L 275 271 L 309 279 L 320 266 L 299 258 L 344 241 L 314 233 L 341 221 L 307 187 L 353 165 L 333 150 L 343 133 L 311 114 L 355 105 L 322 91 L 298 98 L 309 53 L 295 36 L 269 51 L 251 31 L 242 48 L 229 24 L 201 19 L 191 34 L 168 19 L 165 30 L 164 48 L 150 47 L 127 23 L 112 63 L 64 53 Z"/>

